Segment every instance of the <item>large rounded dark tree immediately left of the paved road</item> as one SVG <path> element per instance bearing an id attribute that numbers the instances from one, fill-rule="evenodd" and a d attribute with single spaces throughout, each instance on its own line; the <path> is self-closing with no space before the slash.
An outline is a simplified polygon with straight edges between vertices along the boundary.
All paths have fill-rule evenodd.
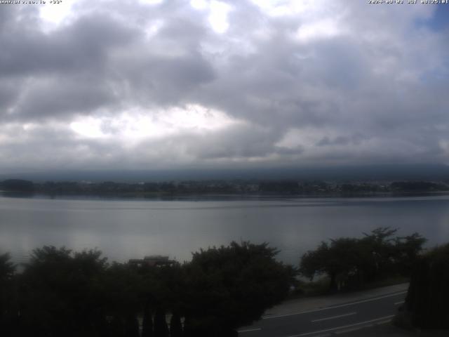
<path id="1" fill-rule="evenodd" d="M 286 298 L 295 270 L 267 243 L 232 242 L 193 254 L 185 265 L 185 329 L 194 336 L 234 336 Z"/>

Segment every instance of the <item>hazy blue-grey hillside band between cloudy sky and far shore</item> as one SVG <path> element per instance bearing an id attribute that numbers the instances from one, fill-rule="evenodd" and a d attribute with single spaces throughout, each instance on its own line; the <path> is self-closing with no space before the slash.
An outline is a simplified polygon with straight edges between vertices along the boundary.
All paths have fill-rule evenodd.
<path id="1" fill-rule="evenodd" d="M 272 168 L 223 168 L 204 169 L 187 168 L 183 170 L 140 170 L 140 171 L 46 171 L 4 173 L 0 180 L 18 178 L 34 182 L 81 181 L 93 182 L 115 181 L 138 183 L 140 181 L 164 180 L 445 180 L 449 181 L 449 166 L 443 164 L 415 165 L 366 165 L 366 166 L 302 166 Z"/>

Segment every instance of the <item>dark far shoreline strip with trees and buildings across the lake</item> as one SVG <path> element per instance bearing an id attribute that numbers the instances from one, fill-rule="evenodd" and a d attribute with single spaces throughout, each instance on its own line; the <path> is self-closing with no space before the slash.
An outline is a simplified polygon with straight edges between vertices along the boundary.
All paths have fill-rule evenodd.
<path id="1" fill-rule="evenodd" d="M 449 192 L 447 181 L 186 180 L 116 183 L 8 179 L 0 182 L 10 197 L 89 197 L 101 199 L 297 199 L 332 197 L 404 197 Z"/>

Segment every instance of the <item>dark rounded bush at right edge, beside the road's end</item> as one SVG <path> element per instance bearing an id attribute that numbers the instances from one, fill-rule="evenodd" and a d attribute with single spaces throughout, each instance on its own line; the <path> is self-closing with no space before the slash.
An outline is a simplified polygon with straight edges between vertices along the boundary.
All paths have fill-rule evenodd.
<path id="1" fill-rule="evenodd" d="M 413 326 L 449 329 L 449 244 L 417 261 L 410 279 L 406 311 Z"/>

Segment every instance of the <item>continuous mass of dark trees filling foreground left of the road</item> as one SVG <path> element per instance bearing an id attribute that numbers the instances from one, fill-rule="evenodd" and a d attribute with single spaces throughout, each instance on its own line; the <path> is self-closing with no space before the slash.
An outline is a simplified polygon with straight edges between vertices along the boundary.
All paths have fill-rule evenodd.
<path id="1" fill-rule="evenodd" d="M 288 295 L 295 270 L 276 253 L 232 242 L 190 263 L 150 266 L 44 246 L 22 273 L 3 255 L 0 336 L 237 336 Z"/>

